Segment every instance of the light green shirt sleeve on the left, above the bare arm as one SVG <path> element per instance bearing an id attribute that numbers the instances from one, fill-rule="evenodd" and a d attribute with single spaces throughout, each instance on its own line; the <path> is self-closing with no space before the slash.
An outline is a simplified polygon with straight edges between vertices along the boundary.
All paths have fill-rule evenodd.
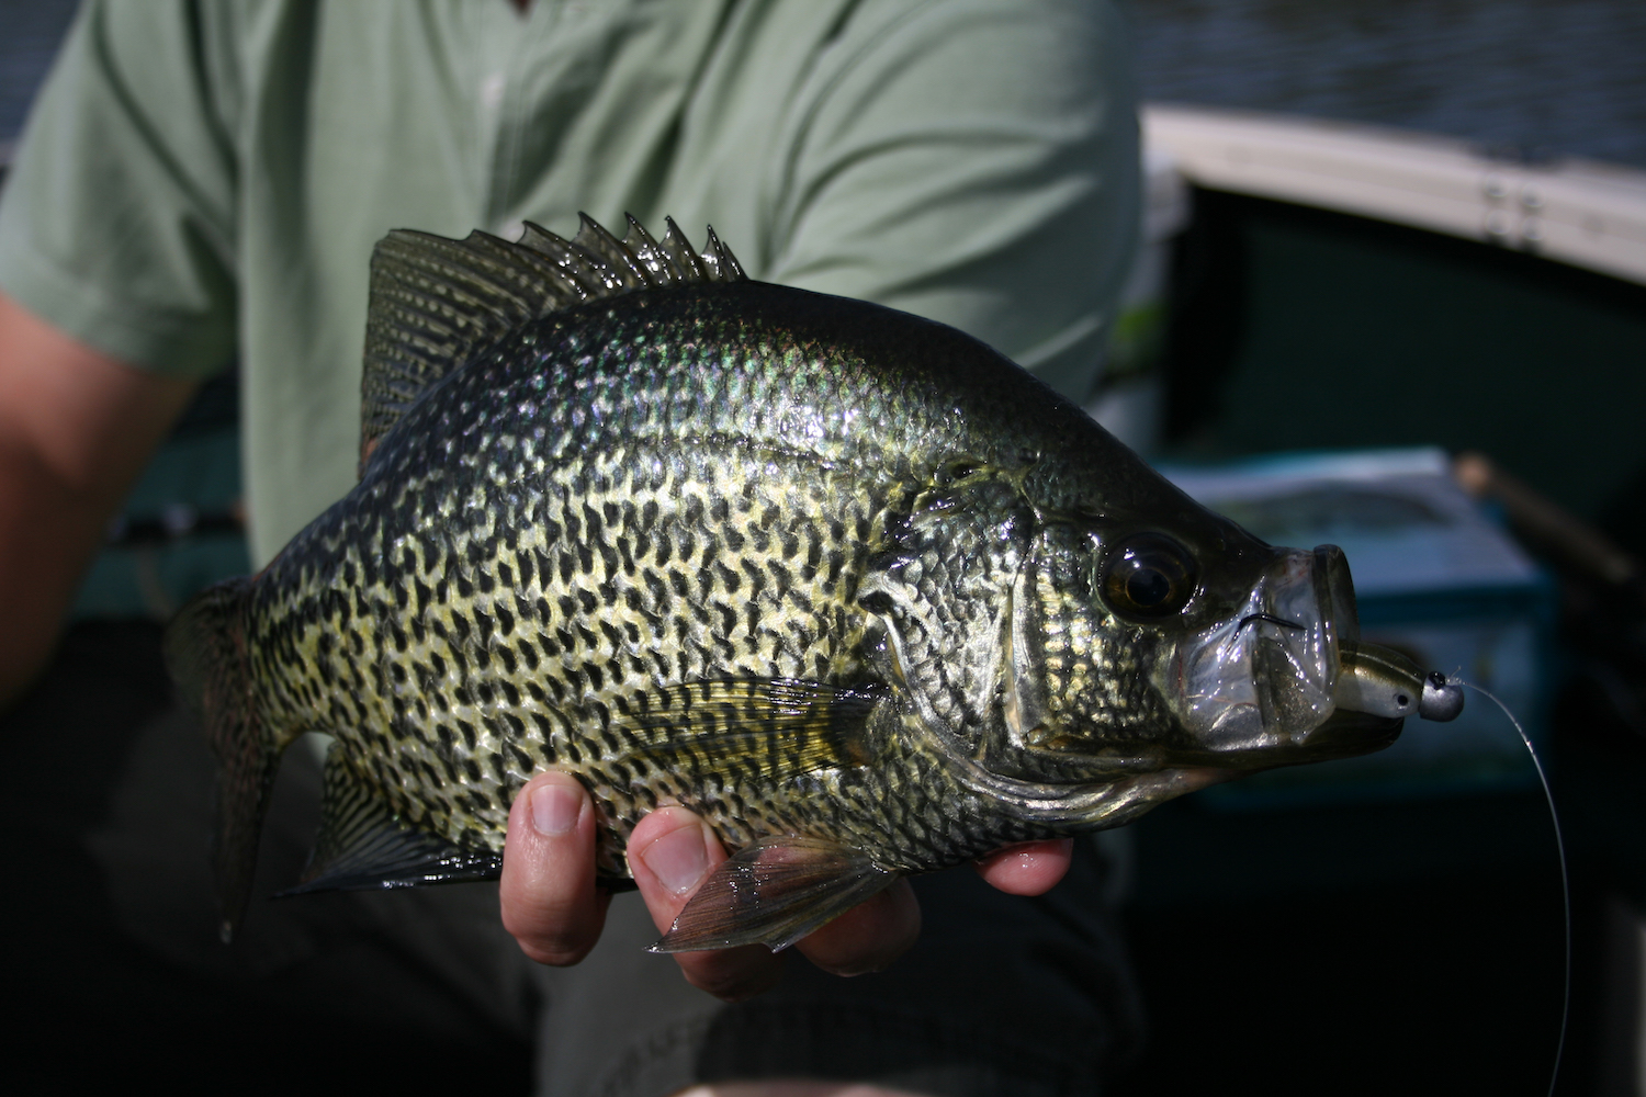
<path id="1" fill-rule="evenodd" d="M 211 31 L 184 0 L 89 0 L 0 201 L 0 289 L 132 365 L 234 354 L 235 168 Z"/>

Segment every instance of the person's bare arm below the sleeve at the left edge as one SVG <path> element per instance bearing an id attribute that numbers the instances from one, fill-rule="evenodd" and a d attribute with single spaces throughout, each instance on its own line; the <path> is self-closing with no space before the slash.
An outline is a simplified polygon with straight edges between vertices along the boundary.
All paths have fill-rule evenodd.
<path id="1" fill-rule="evenodd" d="M 110 513 L 193 390 L 0 293 L 0 706 L 46 661 Z"/>

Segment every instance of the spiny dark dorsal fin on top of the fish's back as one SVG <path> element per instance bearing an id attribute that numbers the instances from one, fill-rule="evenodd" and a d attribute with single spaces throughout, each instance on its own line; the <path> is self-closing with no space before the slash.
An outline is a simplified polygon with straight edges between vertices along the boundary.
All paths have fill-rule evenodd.
<path id="1" fill-rule="evenodd" d="M 657 242 L 629 217 L 619 240 L 588 214 L 571 240 L 527 222 L 518 242 L 395 229 L 372 252 L 360 377 L 360 467 L 388 428 L 469 354 L 528 319 L 630 289 L 746 281 L 709 229 L 698 255 L 673 217 Z"/>

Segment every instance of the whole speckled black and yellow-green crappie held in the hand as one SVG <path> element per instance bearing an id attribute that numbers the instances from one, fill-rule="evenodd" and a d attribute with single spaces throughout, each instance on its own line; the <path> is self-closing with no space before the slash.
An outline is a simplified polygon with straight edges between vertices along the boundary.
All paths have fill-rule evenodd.
<path id="1" fill-rule="evenodd" d="M 1259 541 L 971 336 L 667 229 L 377 245 L 357 485 L 166 632 L 226 939 L 308 732 L 291 891 L 495 878 L 561 770 L 604 886 L 665 804 L 731 850 L 657 946 L 688 951 L 1455 715 L 1360 640 L 1340 549 Z"/>

